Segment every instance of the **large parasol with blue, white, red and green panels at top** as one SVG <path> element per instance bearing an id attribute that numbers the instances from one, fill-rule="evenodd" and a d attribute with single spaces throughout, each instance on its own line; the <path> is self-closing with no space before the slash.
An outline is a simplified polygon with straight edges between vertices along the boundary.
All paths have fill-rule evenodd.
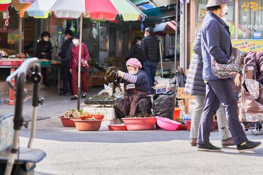
<path id="1" fill-rule="evenodd" d="M 108 21 L 137 21 L 145 16 L 130 0 L 38 0 L 25 11 L 29 16 L 45 16 L 52 11 L 57 18 L 79 18 L 83 14 Z"/>

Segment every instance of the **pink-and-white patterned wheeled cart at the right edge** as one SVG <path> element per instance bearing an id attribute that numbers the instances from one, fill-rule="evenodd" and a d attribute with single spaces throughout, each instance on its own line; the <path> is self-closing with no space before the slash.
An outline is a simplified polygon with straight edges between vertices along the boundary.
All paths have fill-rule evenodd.
<path id="1" fill-rule="evenodd" d="M 244 81 L 241 86 L 241 103 L 244 111 L 242 124 L 249 127 L 254 135 L 263 134 L 263 86 L 256 81 L 254 64 L 246 64 L 244 71 Z"/>

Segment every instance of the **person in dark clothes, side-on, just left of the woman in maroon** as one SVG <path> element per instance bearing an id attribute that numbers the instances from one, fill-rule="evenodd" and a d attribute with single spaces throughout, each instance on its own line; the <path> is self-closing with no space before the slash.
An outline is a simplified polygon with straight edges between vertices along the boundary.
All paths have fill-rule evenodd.
<path id="1" fill-rule="evenodd" d="M 71 30 L 66 30 L 65 31 L 65 42 L 61 48 L 60 53 L 56 53 L 57 57 L 61 57 L 61 70 L 62 70 L 62 81 L 63 81 L 63 92 L 61 95 L 66 95 L 68 96 L 68 83 L 69 86 L 71 87 L 72 91 L 72 84 L 71 84 L 71 75 L 69 72 L 69 60 L 70 60 L 70 50 L 73 45 L 72 43 L 72 31 Z"/>

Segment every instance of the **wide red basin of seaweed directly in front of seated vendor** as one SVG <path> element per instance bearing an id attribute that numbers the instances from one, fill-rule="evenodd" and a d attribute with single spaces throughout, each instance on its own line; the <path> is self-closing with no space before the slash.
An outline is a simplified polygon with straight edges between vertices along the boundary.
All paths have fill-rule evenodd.
<path id="1" fill-rule="evenodd" d="M 152 130 L 156 122 L 155 117 L 149 118 L 123 118 L 129 131 Z"/>

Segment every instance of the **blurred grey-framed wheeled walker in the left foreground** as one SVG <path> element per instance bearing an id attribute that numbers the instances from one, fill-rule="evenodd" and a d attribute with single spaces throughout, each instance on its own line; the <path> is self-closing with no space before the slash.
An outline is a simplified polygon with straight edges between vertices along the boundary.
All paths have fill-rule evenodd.
<path id="1" fill-rule="evenodd" d="M 27 96 L 24 84 L 27 74 L 33 84 L 32 127 L 27 148 L 20 148 L 19 130 L 23 126 L 23 102 Z M 13 78 L 16 78 L 15 87 L 11 83 Z M 37 107 L 43 102 L 43 98 L 39 98 L 41 81 L 40 64 L 37 58 L 26 60 L 6 79 L 10 88 L 15 90 L 16 105 L 14 115 L 9 114 L 0 118 L 0 175 L 33 175 L 36 163 L 46 156 L 44 151 L 31 148 L 36 131 Z"/>

